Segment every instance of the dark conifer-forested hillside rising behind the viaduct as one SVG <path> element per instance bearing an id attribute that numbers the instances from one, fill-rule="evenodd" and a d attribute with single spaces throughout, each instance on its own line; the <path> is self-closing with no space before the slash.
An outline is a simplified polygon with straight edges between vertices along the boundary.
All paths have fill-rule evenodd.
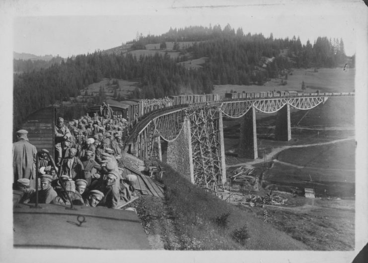
<path id="1" fill-rule="evenodd" d="M 140 36 L 130 42 L 132 49 L 144 48 L 149 43 L 167 41 L 195 41 L 180 50 L 177 59 L 169 55 L 133 56 L 95 52 L 49 62 L 37 66 L 37 61 L 15 61 L 14 72 L 14 127 L 18 127 L 31 112 L 55 101 L 79 95 L 87 85 L 102 78 L 137 80 L 139 87 L 133 96 L 154 98 L 176 95 L 185 90 L 211 93 L 214 84 L 258 84 L 283 74 L 290 67 L 334 67 L 345 62 L 342 40 L 319 37 L 311 45 L 299 38 L 274 39 L 262 34 L 244 35 L 229 25 L 170 29 L 161 36 Z M 179 62 L 206 57 L 203 67 L 187 69 Z M 28 66 L 27 66 L 28 65 Z M 33 66 L 32 66 L 33 65 Z M 41 65 L 41 63 L 39 63 Z"/>

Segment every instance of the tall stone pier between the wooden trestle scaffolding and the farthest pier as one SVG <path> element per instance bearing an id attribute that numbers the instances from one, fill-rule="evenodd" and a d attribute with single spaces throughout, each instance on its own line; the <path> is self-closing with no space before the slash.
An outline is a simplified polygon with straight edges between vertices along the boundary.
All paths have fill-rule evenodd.
<path id="1" fill-rule="evenodd" d="M 249 159 L 258 158 L 256 111 L 254 107 L 251 107 L 244 115 L 240 125 L 239 156 Z"/>

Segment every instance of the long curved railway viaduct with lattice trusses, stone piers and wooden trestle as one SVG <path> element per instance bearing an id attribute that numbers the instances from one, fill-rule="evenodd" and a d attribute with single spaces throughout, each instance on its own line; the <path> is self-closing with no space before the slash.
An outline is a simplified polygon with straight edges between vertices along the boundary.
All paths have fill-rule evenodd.
<path id="1" fill-rule="evenodd" d="M 141 160 L 161 160 L 160 138 L 168 142 L 167 163 L 188 180 L 211 190 L 226 181 L 222 117 L 242 118 L 239 152 L 256 159 L 256 112 L 276 113 L 277 140 L 292 138 L 290 108 L 309 110 L 331 96 L 302 94 L 192 103 L 152 112 L 134 127 L 127 142 Z"/>

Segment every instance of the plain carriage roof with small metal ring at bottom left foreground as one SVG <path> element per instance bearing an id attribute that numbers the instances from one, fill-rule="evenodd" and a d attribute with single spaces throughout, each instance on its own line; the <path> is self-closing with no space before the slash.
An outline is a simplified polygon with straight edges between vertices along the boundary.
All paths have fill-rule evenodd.
<path id="1" fill-rule="evenodd" d="M 30 209 L 32 205 L 17 204 L 13 208 L 16 248 L 150 249 L 134 211 L 99 206 L 75 206 L 76 210 L 71 210 L 57 204 Z"/>

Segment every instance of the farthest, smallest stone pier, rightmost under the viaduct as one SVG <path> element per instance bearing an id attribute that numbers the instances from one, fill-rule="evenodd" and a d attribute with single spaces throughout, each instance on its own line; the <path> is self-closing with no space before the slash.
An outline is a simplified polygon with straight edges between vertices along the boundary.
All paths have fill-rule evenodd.
<path id="1" fill-rule="evenodd" d="M 277 112 L 275 138 L 277 140 L 284 141 L 289 141 L 292 139 L 289 104 L 286 104 Z"/>

